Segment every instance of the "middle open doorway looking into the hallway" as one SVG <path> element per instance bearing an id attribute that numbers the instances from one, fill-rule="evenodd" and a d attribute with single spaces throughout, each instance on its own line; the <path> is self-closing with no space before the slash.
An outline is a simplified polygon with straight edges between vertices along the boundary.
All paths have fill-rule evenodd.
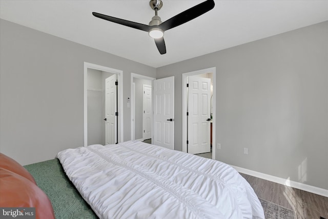
<path id="1" fill-rule="evenodd" d="M 152 84 L 154 79 L 131 73 L 131 140 L 152 142 Z"/>

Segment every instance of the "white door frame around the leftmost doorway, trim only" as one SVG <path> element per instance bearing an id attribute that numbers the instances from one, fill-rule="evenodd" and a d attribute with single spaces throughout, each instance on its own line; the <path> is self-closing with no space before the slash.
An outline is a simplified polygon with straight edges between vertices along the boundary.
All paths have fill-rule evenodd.
<path id="1" fill-rule="evenodd" d="M 123 142 L 123 71 L 118 69 L 100 66 L 92 63 L 84 62 L 84 146 L 88 146 L 88 69 L 95 69 L 99 71 L 106 71 L 109 73 L 117 74 L 118 81 L 118 139 L 117 142 Z"/>

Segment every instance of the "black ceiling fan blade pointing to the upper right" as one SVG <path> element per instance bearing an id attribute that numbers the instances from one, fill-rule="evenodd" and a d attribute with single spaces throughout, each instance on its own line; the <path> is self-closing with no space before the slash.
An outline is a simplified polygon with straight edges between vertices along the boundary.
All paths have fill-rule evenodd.
<path id="1" fill-rule="evenodd" d="M 205 2 L 202 2 L 186 11 L 183 11 L 174 17 L 171 17 L 167 21 L 161 23 L 159 26 L 160 29 L 163 31 L 169 30 L 171 28 L 177 27 L 181 24 L 185 24 L 192 19 L 208 12 L 209 10 L 214 8 L 214 1 L 213 0 L 207 0 Z"/>

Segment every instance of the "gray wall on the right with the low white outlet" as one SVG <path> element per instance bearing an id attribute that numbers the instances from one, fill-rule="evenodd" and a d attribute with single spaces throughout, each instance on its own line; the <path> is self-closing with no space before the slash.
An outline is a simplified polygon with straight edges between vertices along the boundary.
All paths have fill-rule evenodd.
<path id="1" fill-rule="evenodd" d="M 158 68 L 158 78 L 175 76 L 175 149 L 181 74 L 216 67 L 217 160 L 328 189 L 327 30 L 319 23 Z"/>

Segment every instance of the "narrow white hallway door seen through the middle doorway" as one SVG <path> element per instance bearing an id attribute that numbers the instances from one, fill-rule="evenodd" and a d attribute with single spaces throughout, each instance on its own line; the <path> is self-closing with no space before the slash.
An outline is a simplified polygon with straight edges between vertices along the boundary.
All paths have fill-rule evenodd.
<path id="1" fill-rule="evenodd" d="M 144 114 L 142 118 L 142 127 L 144 132 L 142 138 L 144 140 L 152 138 L 152 123 L 153 123 L 153 110 L 152 110 L 152 86 L 144 85 Z"/>

